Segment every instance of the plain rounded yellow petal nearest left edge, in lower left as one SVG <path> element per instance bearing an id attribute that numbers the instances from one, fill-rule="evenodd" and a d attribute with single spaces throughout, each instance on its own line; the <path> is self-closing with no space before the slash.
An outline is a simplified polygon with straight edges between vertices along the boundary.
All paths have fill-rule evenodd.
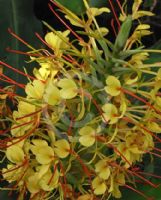
<path id="1" fill-rule="evenodd" d="M 7 148 L 6 156 L 12 163 L 22 163 L 25 159 L 25 154 L 19 145 L 12 145 Z"/>

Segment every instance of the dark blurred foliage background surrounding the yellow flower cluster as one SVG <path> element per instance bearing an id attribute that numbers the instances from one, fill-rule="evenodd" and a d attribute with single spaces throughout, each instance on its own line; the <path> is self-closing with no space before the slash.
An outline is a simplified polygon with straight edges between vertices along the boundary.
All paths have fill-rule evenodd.
<path id="1" fill-rule="evenodd" d="M 69 0 L 58 1 L 75 12 L 77 15 L 81 15 L 85 11 L 82 0 L 70 0 L 70 3 Z M 23 67 L 25 67 L 29 73 L 32 73 L 34 64 L 28 64 L 26 62 L 27 57 L 25 55 L 13 54 L 6 51 L 7 47 L 24 52 L 28 50 L 25 45 L 12 37 L 8 33 L 7 29 L 11 28 L 17 35 L 19 35 L 29 44 L 36 48 L 41 48 L 42 43 L 36 38 L 35 32 L 38 32 L 43 36 L 48 31 L 47 28 L 42 25 L 41 20 L 46 21 L 57 30 L 65 29 L 61 22 L 50 12 L 48 8 L 49 2 L 49 0 L 0 0 L 0 60 L 22 71 Z M 120 2 L 123 1 L 120 0 Z M 116 12 L 119 12 L 118 7 L 116 6 L 116 1 L 113 0 L 113 3 L 116 8 Z M 132 3 L 132 0 L 128 2 L 128 9 L 131 8 Z M 89 4 L 96 7 L 108 6 L 110 8 L 107 0 L 89 0 Z M 143 40 L 143 44 L 146 47 L 161 49 L 161 1 L 145 0 L 143 7 L 144 9 L 151 10 L 155 13 L 154 17 L 146 17 L 143 19 L 144 23 L 151 25 L 151 29 L 154 32 L 153 35 Z M 57 10 L 56 6 L 55 10 Z M 61 13 L 59 14 L 62 16 Z M 100 26 L 106 26 L 109 28 L 111 19 L 113 17 L 114 16 L 112 13 L 110 15 L 104 14 L 97 20 Z M 114 39 L 112 29 L 109 37 L 111 37 L 111 40 Z M 153 61 L 160 62 L 160 54 L 151 54 L 149 62 Z M 14 73 L 8 68 L 3 67 L 3 71 L 8 77 L 16 80 L 17 82 L 25 83 L 27 81 L 24 77 L 18 73 Z M 4 85 L 6 84 L 1 81 L 0 87 L 3 87 Z M 17 89 L 17 92 L 22 94 L 22 91 L 19 89 Z M 146 163 L 146 160 L 147 159 L 145 158 L 145 162 L 143 163 L 143 170 L 161 175 L 161 159 L 156 158 L 154 160 L 154 164 L 150 162 Z M 161 184 L 161 180 L 154 180 L 154 182 Z M 146 185 L 140 185 L 139 187 L 146 194 L 149 194 L 149 196 L 154 196 L 156 200 L 161 200 L 161 187 L 157 189 L 150 188 Z M 128 200 L 129 195 L 131 200 L 143 199 L 136 193 L 126 190 L 124 191 L 124 197 L 122 200 Z M 13 200 L 14 198 L 16 199 L 14 196 L 8 196 L 7 191 L 0 192 L 0 199 Z"/>

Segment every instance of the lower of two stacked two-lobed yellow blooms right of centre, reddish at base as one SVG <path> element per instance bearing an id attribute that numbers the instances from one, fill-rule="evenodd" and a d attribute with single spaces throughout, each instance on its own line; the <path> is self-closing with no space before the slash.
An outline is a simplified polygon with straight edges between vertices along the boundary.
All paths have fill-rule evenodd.
<path id="1" fill-rule="evenodd" d="M 102 110 L 104 111 L 103 117 L 109 124 L 117 123 L 120 116 L 115 105 L 107 103 L 102 106 Z"/>

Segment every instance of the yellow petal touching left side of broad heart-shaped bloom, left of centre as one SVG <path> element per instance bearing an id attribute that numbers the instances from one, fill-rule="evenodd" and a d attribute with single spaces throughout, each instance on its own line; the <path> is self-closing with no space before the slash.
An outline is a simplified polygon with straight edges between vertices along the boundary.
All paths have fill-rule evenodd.
<path id="1" fill-rule="evenodd" d="M 57 105 L 61 100 L 60 91 L 55 85 L 49 83 L 47 85 L 47 88 L 45 89 L 45 94 L 43 98 L 45 102 L 48 103 L 49 105 L 52 106 Z"/>

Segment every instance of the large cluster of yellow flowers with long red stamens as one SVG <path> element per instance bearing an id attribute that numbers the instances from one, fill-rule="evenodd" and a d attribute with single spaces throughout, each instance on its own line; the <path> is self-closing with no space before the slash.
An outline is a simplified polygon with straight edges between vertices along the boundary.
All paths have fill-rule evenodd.
<path id="1" fill-rule="evenodd" d="M 134 1 L 132 14 L 121 7 L 114 44 L 95 18 L 110 10 L 86 1 L 85 18 L 58 4 L 82 31 L 55 31 L 45 23 L 47 48 L 29 52 L 39 68 L 26 97 L 14 97 L 17 110 L 1 144 L 2 175 L 19 199 L 26 193 L 32 200 L 121 198 L 120 188 L 133 189 L 137 179 L 155 186 L 136 169 L 145 154 L 153 156 L 161 133 L 161 65 L 146 62 L 150 50 L 141 38 L 151 32 L 140 18 L 152 13 L 139 10 L 141 3 Z"/>

